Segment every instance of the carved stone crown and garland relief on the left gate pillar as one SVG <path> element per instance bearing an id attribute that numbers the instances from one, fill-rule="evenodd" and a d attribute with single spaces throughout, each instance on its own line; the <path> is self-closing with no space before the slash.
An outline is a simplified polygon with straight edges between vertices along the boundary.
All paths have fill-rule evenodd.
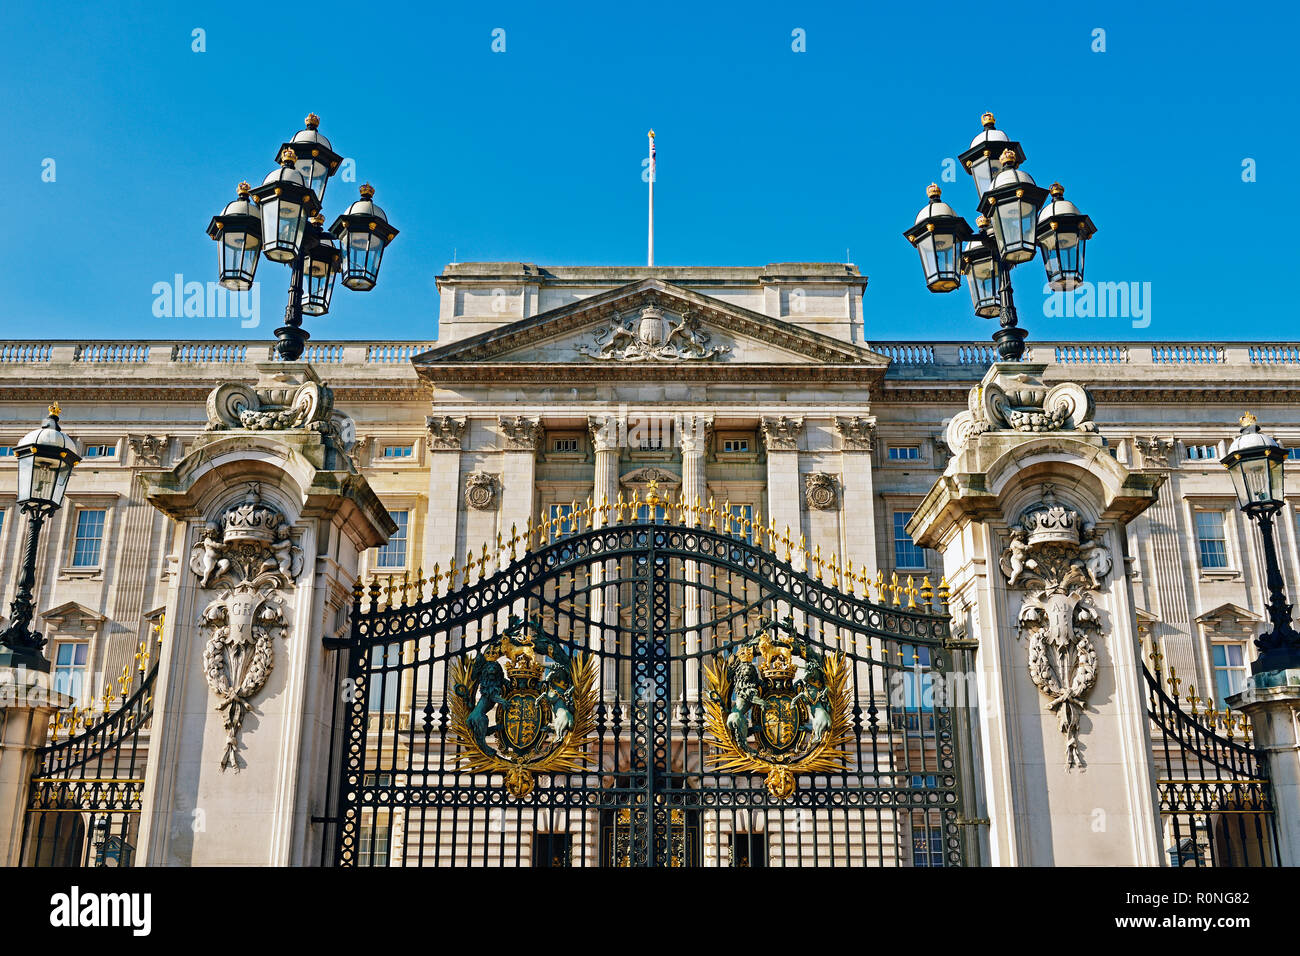
<path id="1" fill-rule="evenodd" d="M 261 501 L 256 484 L 247 497 L 211 522 L 190 551 L 199 588 L 221 589 L 199 615 L 208 635 L 203 675 L 222 714 L 226 745 L 221 769 L 238 771 L 239 728 L 250 701 L 274 666 L 274 639 L 289 628 L 282 589 L 303 570 L 303 551 L 285 515 Z"/>

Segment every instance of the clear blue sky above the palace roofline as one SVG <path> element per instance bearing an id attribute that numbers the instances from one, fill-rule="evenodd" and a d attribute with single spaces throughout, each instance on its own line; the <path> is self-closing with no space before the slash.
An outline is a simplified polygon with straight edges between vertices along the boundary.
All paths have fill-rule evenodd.
<path id="1" fill-rule="evenodd" d="M 984 339 L 965 290 L 926 291 L 901 233 L 992 109 L 1024 169 L 1098 225 L 1088 278 L 1149 290 L 1145 328 L 1048 316 L 1040 263 L 1022 265 L 1031 341 L 1295 339 L 1294 229 L 1277 212 L 1295 202 L 1297 14 L 1165 7 L 10 0 L 0 337 L 269 338 L 285 267 L 260 267 L 256 329 L 157 317 L 153 289 L 214 278 L 209 217 L 316 111 L 402 230 L 374 291 L 337 289 L 307 320 L 317 339 L 432 337 L 454 254 L 644 264 L 651 126 L 659 264 L 848 250 L 870 276 L 868 341 Z M 974 221 L 970 178 L 941 185 Z M 354 196 L 333 182 L 328 221 Z"/>

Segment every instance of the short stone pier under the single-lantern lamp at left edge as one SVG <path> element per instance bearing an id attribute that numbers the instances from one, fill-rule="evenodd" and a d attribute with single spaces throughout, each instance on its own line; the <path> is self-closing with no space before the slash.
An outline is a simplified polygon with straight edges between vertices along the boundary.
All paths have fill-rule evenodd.
<path id="1" fill-rule="evenodd" d="M 53 692 L 49 671 L 0 667 L 0 866 L 22 864 L 23 821 L 49 718 L 72 698 Z"/>

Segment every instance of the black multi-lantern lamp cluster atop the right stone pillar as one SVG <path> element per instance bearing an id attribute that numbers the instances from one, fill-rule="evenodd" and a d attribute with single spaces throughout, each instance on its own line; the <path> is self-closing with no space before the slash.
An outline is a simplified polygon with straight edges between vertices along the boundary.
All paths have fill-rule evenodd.
<path id="1" fill-rule="evenodd" d="M 1097 228 L 1065 198 L 1061 183 L 1045 190 L 1020 170 L 1024 150 L 993 126 L 992 113 L 982 118 L 984 130 L 958 156 L 979 193 L 979 229 L 941 202 L 939 186 L 930 183 L 930 203 L 904 235 L 920 254 L 930 291 L 950 293 L 961 287 L 963 274 L 970 277 L 975 315 L 1000 320 L 993 333 L 997 354 L 1019 362 L 1026 332 L 1015 313 L 1011 269 L 1041 252 L 1050 287 L 1070 291 L 1083 282 L 1084 246 Z M 1048 195 L 1052 202 L 1044 204 Z"/>

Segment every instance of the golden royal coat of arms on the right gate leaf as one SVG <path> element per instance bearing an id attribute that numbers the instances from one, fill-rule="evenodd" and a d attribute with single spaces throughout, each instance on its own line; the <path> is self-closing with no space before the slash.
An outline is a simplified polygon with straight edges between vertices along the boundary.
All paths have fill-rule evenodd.
<path id="1" fill-rule="evenodd" d="M 764 774 L 772 799 L 788 800 L 798 777 L 849 765 L 844 654 L 819 653 L 766 624 L 705 672 L 708 732 L 720 749 L 710 756 L 715 769 Z"/>

